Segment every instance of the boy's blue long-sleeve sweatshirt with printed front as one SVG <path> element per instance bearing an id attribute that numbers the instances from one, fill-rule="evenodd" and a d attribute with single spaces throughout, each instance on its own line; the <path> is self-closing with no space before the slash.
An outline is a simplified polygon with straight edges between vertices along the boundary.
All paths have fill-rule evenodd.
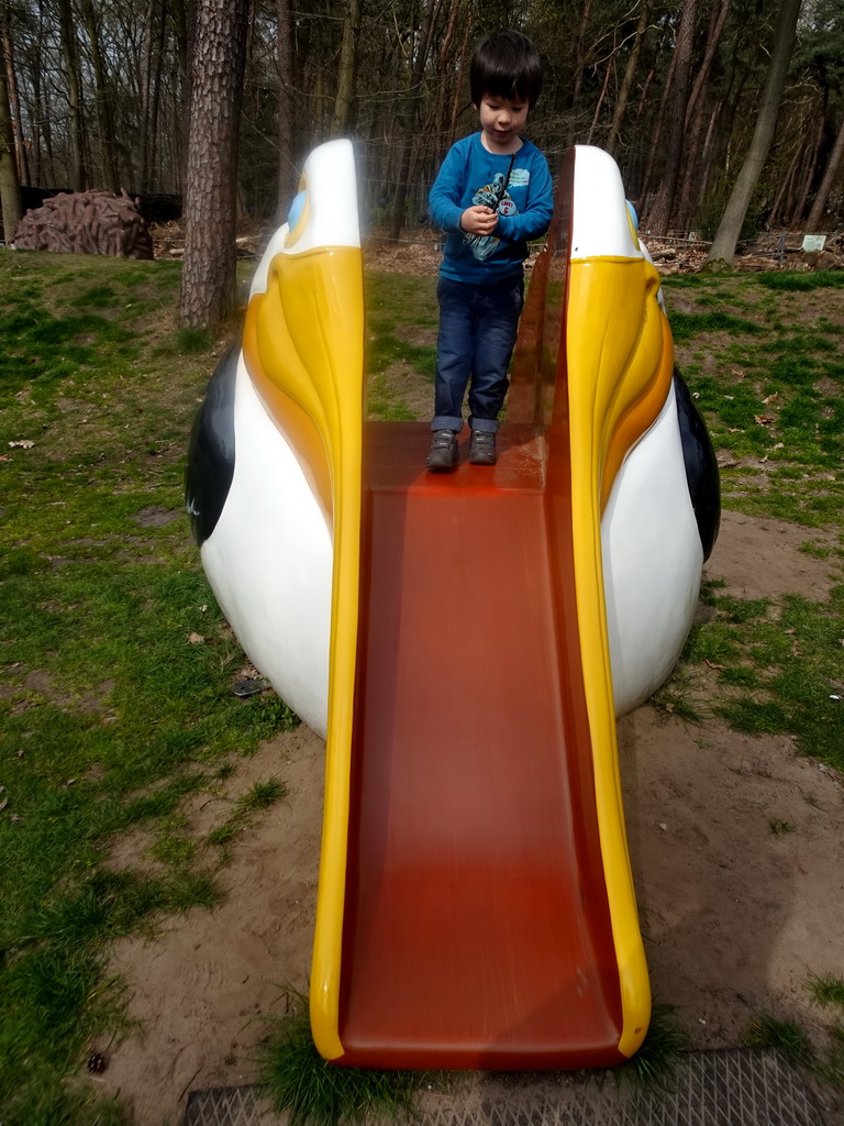
<path id="1" fill-rule="evenodd" d="M 513 159 L 487 152 L 481 136 L 451 146 L 429 196 L 432 220 L 448 233 L 440 275 L 454 282 L 519 277 L 528 240 L 545 234 L 554 211 L 548 162 L 539 149 L 522 138 Z M 460 229 L 460 216 L 473 204 L 497 204 L 494 234 L 482 239 Z"/>

